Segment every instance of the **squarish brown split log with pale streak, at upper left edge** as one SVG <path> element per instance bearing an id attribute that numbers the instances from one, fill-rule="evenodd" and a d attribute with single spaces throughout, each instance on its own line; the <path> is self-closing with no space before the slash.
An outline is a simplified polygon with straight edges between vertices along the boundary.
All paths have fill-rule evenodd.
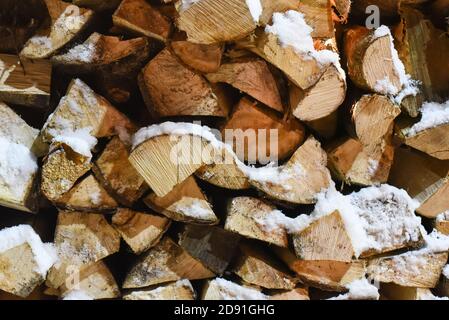
<path id="1" fill-rule="evenodd" d="M 50 103 L 51 64 L 0 54 L 0 99 L 6 103 L 46 109 Z"/>

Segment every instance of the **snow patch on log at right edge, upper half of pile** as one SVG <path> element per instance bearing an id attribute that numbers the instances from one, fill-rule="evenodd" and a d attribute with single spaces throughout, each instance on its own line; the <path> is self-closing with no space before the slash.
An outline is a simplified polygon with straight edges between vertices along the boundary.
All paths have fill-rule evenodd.
<path id="1" fill-rule="evenodd" d="M 449 100 L 441 104 L 437 102 L 425 102 L 421 107 L 421 114 L 422 117 L 419 122 L 404 130 L 406 136 L 412 137 L 426 129 L 448 124 Z"/>

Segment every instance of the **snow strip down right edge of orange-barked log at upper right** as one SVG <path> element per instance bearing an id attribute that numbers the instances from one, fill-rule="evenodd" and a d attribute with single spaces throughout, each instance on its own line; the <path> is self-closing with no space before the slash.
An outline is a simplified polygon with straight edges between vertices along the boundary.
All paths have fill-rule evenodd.
<path id="1" fill-rule="evenodd" d="M 401 83 L 401 89 L 397 90 L 390 82 L 388 78 L 380 79 L 377 81 L 374 90 L 381 94 L 389 95 L 393 97 L 393 100 L 397 104 L 401 104 L 402 100 L 407 96 L 416 96 L 419 92 L 418 82 L 413 80 L 409 74 L 405 71 L 405 66 L 399 58 L 398 51 L 394 47 L 393 36 L 390 29 L 382 25 L 374 31 L 373 39 L 388 36 L 390 39 L 391 56 L 393 59 L 393 65 L 396 75 L 399 77 Z"/>

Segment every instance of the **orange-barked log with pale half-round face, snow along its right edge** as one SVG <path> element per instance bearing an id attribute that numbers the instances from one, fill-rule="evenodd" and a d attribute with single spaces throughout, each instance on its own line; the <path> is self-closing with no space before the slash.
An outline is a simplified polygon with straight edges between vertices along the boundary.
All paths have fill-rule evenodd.
<path id="1" fill-rule="evenodd" d="M 380 81 L 388 81 L 391 91 L 402 89 L 396 73 L 389 35 L 376 37 L 361 26 L 349 29 L 344 39 L 345 55 L 351 80 L 360 88 L 382 93 Z"/>

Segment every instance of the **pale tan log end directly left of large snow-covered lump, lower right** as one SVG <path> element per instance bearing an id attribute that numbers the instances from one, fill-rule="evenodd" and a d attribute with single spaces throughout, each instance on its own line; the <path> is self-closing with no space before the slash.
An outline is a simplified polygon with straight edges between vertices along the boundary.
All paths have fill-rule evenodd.
<path id="1" fill-rule="evenodd" d="M 351 238 L 338 211 L 294 234 L 293 246 L 298 258 L 303 260 L 351 262 L 354 256 Z"/>

